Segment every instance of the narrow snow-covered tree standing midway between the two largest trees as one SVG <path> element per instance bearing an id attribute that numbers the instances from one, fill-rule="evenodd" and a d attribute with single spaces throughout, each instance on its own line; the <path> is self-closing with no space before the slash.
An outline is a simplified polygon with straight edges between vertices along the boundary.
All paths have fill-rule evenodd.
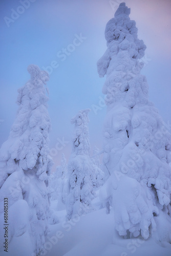
<path id="1" fill-rule="evenodd" d="M 67 200 L 67 219 L 74 214 L 90 212 L 95 197 L 94 187 L 102 184 L 103 172 L 90 158 L 89 109 L 81 110 L 72 118 L 75 124 L 73 133 L 73 152 L 69 160 L 70 193 Z"/>

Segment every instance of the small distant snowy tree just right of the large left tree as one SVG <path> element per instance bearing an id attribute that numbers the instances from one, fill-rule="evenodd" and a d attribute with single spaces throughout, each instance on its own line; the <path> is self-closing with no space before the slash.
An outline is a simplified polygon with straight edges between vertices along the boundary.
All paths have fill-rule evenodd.
<path id="1" fill-rule="evenodd" d="M 52 177 L 52 200 L 58 200 L 57 209 L 65 207 L 69 193 L 68 165 L 65 155 L 62 153 L 61 163 L 56 167 Z"/>

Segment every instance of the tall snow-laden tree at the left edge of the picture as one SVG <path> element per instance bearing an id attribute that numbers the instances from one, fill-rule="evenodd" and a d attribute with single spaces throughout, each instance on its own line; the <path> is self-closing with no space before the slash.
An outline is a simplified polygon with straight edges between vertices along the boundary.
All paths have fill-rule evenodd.
<path id="1" fill-rule="evenodd" d="M 40 255 L 51 218 L 47 186 L 53 163 L 48 146 L 50 118 L 45 89 L 49 75 L 35 65 L 30 65 L 28 72 L 31 79 L 18 90 L 18 112 L 0 150 L 0 202 L 3 204 L 8 198 L 8 242 L 28 233 L 32 255 Z"/>

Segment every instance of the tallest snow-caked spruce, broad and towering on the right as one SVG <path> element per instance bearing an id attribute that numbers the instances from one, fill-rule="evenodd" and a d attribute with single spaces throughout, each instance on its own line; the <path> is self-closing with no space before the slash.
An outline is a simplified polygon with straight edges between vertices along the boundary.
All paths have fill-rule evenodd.
<path id="1" fill-rule="evenodd" d="M 108 48 L 97 62 L 99 76 L 106 75 L 103 165 L 111 174 L 100 198 L 108 211 L 114 208 L 120 235 L 147 239 L 156 229 L 158 241 L 170 241 L 171 136 L 148 101 L 140 74 L 146 47 L 129 14 L 120 4 L 106 25 Z"/>

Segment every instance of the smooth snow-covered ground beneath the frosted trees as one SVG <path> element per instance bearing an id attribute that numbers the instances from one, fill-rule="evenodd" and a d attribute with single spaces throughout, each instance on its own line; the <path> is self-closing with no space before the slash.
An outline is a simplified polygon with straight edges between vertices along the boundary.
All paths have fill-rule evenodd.
<path id="1" fill-rule="evenodd" d="M 55 208 L 57 201 L 52 202 Z M 66 211 L 58 211 L 60 222 L 50 225 L 45 243 L 46 256 L 169 256 L 171 244 L 158 244 L 155 238 L 123 239 L 114 228 L 114 214 L 106 214 L 104 208 L 90 214 L 65 221 Z M 155 237 L 155 236 L 154 236 Z M 14 238 L 9 251 L 1 256 L 31 256 L 32 245 L 28 233 Z"/>

